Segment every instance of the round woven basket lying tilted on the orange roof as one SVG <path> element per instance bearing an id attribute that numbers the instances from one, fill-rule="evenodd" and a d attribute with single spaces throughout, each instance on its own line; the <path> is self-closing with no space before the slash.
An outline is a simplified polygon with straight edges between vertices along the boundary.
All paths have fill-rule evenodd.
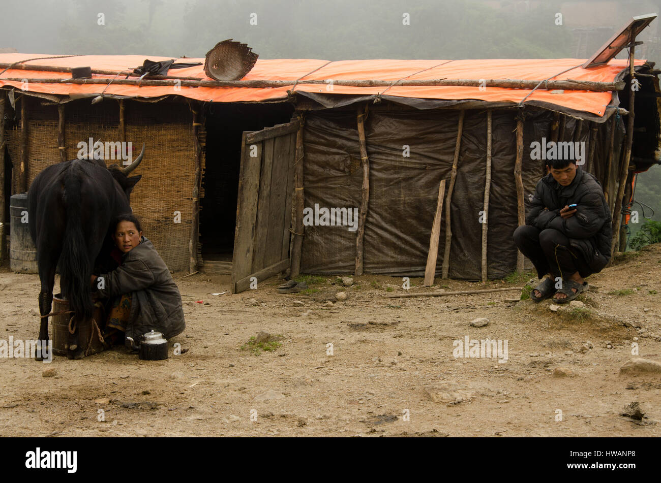
<path id="1" fill-rule="evenodd" d="M 204 73 L 216 81 L 239 81 L 253 69 L 257 57 L 247 44 L 223 40 L 207 52 Z"/>

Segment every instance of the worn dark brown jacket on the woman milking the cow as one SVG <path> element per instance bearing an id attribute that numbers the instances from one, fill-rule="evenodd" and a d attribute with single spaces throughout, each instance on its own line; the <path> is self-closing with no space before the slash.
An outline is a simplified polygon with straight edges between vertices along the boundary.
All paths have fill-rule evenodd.
<path id="1" fill-rule="evenodd" d="M 133 296 L 126 337 L 137 342 L 141 335 L 153 330 L 171 338 L 186 328 L 175 280 L 154 245 L 144 236 L 137 247 L 122 255 L 122 265 L 100 277 L 103 288 L 98 288 L 98 279 L 93 288 L 101 297 Z"/>

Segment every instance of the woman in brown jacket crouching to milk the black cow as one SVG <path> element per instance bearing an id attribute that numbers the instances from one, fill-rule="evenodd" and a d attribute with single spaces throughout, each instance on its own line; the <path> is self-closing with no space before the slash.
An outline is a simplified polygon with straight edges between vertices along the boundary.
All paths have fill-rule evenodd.
<path id="1" fill-rule="evenodd" d="M 143 236 L 139 220 L 124 214 L 113 224 L 115 247 L 110 255 L 119 266 L 91 278 L 93 294 L 105 301 L 108 313 L 106 346 L 132 346 L 133 340 L 150 331 L 165 338 L 182 333 L 186 324 L 181 295 L 165 262 Z"/>

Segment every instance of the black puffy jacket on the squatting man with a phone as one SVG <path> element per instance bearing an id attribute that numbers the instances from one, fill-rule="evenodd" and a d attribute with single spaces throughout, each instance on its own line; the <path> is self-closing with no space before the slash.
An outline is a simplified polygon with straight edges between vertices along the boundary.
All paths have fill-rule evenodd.
<path id="1" fill-rule="evenodd" d="M 572 203 L 578 205 L 576 212 L 564 220 L 560 210 Z M 593 273 L 601 271 L 611 259 L 611 211 L 603 197 L 602 185 L 580 167 L 568 186 L 555 181 L 551 173 L 537 182 L 525 224 L 539 230 L 555 228 L 563 232 Z"/>

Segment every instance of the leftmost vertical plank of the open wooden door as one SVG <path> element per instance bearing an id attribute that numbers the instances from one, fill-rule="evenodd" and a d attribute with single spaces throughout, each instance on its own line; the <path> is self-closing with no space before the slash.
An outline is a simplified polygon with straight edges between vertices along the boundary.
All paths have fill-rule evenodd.
<path id="1" fill-rule="evenodd" d="M 251 156 L 251 147 L 245 143 L 247 133 L 243 133 L 239 193 L 237 195 L 237 226 L 234 234 L 232 255 L 232 285 L 251 274 L 253 267 L 254 232 L 257 220 L 257 197 L 261 171 L 262 143 L 256 145 L 256 156 Z M 232 293 L 236 293 L 233 291 Z"/>

